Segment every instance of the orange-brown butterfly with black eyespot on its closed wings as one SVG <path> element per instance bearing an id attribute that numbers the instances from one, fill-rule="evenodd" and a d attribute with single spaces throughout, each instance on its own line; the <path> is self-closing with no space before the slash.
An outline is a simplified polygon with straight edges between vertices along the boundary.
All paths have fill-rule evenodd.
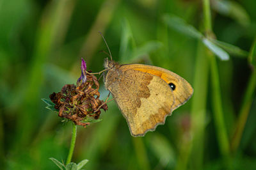
<path id="1" fill-rule="evenodd" d="M 164 124 L 166 116 L 184 104 L 193 89 L 179 75 L 150 65 L 104 62 L 108 89 L 124 115 L 133 136 L 143 136 Z"/>

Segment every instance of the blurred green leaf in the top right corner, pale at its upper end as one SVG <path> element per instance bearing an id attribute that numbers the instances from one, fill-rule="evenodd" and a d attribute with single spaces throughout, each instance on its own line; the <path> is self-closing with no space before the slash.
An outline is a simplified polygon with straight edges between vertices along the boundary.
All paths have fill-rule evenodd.
<path id="1" fill-rule="evenodd" d="M 216 0 L 212 7 L 217 12 L 236 20 L 242 26 L 250 24 L 250 17 L 241 4 L 235 1 Z"/>

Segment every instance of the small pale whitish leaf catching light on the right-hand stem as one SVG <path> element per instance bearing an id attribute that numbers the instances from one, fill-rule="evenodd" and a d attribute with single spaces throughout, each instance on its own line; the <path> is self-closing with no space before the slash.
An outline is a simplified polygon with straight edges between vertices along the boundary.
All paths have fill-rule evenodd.
<path id="1" fill-rule="evenodd" d="M 216 54 L 216 56 L 218 56 L 221 60 L 229 59 L 229 55 L 225 50 L 221 49 L 221 47 L 218 47 L 218 45 L 215 45 L 207 38 L 203 38 L 202 42 L 209 50 L 211 50 L 214 54 Z"/>

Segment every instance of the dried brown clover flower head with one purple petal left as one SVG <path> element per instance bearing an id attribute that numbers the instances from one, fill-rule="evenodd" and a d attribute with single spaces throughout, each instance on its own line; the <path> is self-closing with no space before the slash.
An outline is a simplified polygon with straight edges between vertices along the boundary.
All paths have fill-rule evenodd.
<path id="1" fill-rule="evenodd" d="M 81 77 L 77 84 L 66 84 L 59 93 L 49 96 L 58 109 L 61 118 L 72 120 L 76 125 L 86 127 L 100 116 L 100 109 L 108 110 L 108 105 L 100 100 L 97 77 L 86 73 L 86 63 L 82 58 Z"/>

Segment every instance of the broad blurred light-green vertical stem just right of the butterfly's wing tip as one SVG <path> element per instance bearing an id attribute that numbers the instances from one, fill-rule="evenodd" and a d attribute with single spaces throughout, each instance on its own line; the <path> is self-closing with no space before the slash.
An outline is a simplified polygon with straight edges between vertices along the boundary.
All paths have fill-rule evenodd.
<path id="1" fill-rule="evenodd" d="M 197 50 L 193 80 L 195 94 L 191 105 L 191 135 L 193 135 L 191 155 L 196 157 L 191 157 L 191 166 L 192 169 L 203 169 L 209 59 L 205 58 L 207 49 L 201 42 L 198 42 Z"/>

